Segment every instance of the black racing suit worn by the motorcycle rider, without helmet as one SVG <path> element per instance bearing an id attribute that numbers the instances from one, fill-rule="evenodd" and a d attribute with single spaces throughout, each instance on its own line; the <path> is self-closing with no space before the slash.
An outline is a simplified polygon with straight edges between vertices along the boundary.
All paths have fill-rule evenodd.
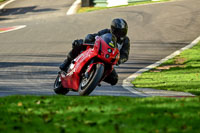
<path id="1" fill-rule="evenodd" d="M 99 31 L 98 33 L 88 34 L 85 37 L 85 42 L 86 43 L 93 43 L 95 41 L 96 36 L 101 36 L 101 35 L 106 34 L 106 33 L 111 33 L 111 32 L 110 32 L 109 29 L 104 29 L 104 30 Z M 123 38 L 122 40 L 117 38 L 117 45 L 118 45 L 118 49 L 120 50 L 120 59 L 118 61 L 118 64 L 122 64 L 122 63 L 124 63 L 128 60 L 129 51 L 130 51 L 130 40 L 127 36 L 125 38 Z M 72 50 L 69 52 L 69 54 L 67 56 L 68 60 L 73 60 L 83 50 L 85 50 L 84 46 L 73 46 Z M 111 85 L 117 84 L 118 75 L 117 75 L 115 69 L 113 69 L 113 71 L 110 73 L 110 75 L 108 75 L 104 79 L 104 81 L 107 82 L 107 83 L 110 83 Z"/>

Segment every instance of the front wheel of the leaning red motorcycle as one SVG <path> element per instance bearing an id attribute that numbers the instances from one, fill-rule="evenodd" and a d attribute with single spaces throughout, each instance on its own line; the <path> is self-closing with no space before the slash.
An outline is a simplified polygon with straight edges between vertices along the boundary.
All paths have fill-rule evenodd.
<path id="1" fill-rule="evenodd" d="M 89 95 L 95 87 L 99 84 L 104 73 L 104 66 L 102 64 L 96 64 L 92 69 L 88 77 L 83 77 L 79 87 L 79 95 Z"/>

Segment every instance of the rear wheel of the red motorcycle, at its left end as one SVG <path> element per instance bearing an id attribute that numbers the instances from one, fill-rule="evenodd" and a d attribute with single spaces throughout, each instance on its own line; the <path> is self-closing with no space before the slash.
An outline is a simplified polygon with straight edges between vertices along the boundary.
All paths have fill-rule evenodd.
<path id="1" fill-rule="evenodd" d="M 54 92 L 58 95 L 66 95 L 69 92 L 67 88 L 63 88 L 59 75 L 54 82 Z"/>

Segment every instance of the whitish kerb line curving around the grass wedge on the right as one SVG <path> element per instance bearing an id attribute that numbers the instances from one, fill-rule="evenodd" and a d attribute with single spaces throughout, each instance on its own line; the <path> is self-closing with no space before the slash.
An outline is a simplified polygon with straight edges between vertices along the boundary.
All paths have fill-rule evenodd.
<path id="1" fill-rule="evenodd" d="M 156 63 L 147 66 L 146 68 L 140 69 L 139 71 L 135 72 L 134 74 L 130 75 L 128 78 L 123 80 L 123 84 L 122 87 L 128 91 L 130 91 L 131 93 L 140 95 L 140 96 L 151 96 L 142 92 L 138 92 L 136 89 L 134 89 L 133 84 L 131 83 L 131 81 L 133 81 L 137 76 L 141 75 L 143 72 L 146 72 L 150 69 L 153 69 L 157 66 L 159 66 L 160 64 L 164 63 L 165 61 L 179 55 L 182 51 L 187 50 L 191 47 L 193 47 L 194 45 L 196 45 L 198 42 L 200 41 L 200 36 L 198 38 L 196 38 L 194 41 L 192 41 L 189 45 L 181 48 L 180 50 L 175 51 L 174 53 L 172 53 L 171 55 L 165 57 L 164 59 L 161 59 L 160 61 L 157 61 Z"/>

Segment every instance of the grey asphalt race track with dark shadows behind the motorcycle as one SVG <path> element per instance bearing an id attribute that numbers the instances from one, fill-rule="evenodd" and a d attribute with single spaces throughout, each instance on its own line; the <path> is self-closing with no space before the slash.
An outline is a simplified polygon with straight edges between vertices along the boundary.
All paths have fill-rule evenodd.
<path id="1" fill-rule="evenodd" d="M 74 39 L 109 28 L 124 18 L 131 40 L 129 61 L 116 70 L 119 83 L 103 84 L 91 95 L 132 96 L 121 85 L 132 73 L 188 45 L 200 35 L 200 1 L 113 8 L 66 16 L 73 0 L 16 0 L 0 13 L 0 28 L 26 28 L 0 34 L 0 96 L 52 95 L 58 66 Z M 76 93 L 69 93 L 76 95 Z"/>

